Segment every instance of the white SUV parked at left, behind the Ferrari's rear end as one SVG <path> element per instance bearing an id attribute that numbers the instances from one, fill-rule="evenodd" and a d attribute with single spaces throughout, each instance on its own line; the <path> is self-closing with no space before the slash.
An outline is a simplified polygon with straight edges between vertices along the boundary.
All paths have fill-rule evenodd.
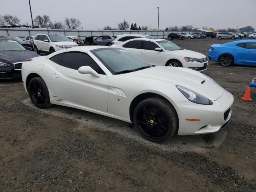
<path id="1" fill-rule="evenodd" d="M 34 39 L 34 52 L 40 54 L 53 53 L 58 50 L 78 46 L 67 37 L 60 34 L 37 34 Z"/>

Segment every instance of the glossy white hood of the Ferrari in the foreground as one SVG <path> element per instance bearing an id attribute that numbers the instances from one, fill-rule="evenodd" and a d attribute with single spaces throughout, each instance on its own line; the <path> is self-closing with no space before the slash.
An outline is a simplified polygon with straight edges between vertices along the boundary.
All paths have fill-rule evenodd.
<path id="1" fill-rule="evenodd" d="M 152 80 L 154 82 L 158 81 L 159 84 L 166 87 L 169 86 L 168 84 L 172 84 L 173 86 L 180 85 L 211 101 L 217 100 L 224 92 L 221 86 L 214 83 L 202 73 L 186 68 L 156 66 L 123 75 L 148 82 Z M 205 82 L 202 84 L 203 81 Z"/>

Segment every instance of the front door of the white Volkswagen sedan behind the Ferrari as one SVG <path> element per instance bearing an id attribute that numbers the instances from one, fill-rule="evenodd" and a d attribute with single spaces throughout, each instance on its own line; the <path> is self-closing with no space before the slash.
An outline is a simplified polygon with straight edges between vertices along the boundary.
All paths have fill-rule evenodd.
<path id="1" fill-rule="evenodd" d="M 151 65 L 164 65 L 164 52 L 156 51 L 160 48 L 155 42 L 144 40 L 142 43 L 141 58 Z"/>

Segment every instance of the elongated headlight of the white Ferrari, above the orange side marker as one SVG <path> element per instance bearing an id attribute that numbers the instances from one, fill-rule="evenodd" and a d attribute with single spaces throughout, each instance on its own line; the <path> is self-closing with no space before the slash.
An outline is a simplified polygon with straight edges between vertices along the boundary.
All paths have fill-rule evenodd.
<path id="1" fill-rule="evenodd" d="M 178 90 L 180 90 L 180 92 L 191 102 L 193 103 L 197 103 L 197 104 L 202 104 L 202 105 L 212 105 L 213 102 L 207 98 L 205 98 L 204 96 L 193 92 L 187 88 L 184 88 L 182 86 L 176 85 L 176 87 L 178 88 Z"/>

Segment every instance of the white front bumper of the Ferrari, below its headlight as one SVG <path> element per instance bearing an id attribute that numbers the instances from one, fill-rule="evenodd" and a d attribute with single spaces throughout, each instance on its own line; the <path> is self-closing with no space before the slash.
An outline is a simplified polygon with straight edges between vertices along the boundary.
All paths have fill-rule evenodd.
<path id="1" fill-rule="evenodd" d="M 178 135 L 208 134 L 226 128 L 231 118 L 233 102 L 234 97 L 226 90 L 212 105 L 200 105 L 190 101 L 174 102 L 179 117 Z"/>

